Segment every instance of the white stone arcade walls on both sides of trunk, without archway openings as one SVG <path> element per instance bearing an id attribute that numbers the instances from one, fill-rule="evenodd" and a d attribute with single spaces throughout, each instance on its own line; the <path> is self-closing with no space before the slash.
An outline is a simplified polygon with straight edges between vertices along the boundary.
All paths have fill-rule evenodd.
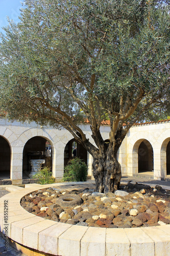
<path id="1" fill-rule="evenodd" d="M 81 125 L 82 130 L 91 143 L 90 125 Z M 101 126 L 104 140 L 109 139 L 110 127 Z M 8 122 L 0 118 L 0 136 L 4 137 L 11 148 L 11 179 L 22 180 L 22 153 L 27 141 L 35 136 L 41 136 L 48 140 L 52 146 L 53 163 L 52 173 L 56 178 L 63 177 L 64 148 L 72 135 L 65 129 L 57 130 L 53 127 L 42 127 L 34 122 L 20 123 Z M 160 179 L 166 176 L 166 146 L 170 140 L 170 122 L 160 122 L 133 126 L 120 146 L 117 158 L 122 166 L 122 174 L 130 175 L 138 172 L 138 146 L 142 140 L 148 140 L 154 153 L 154 178 Z M 87 154 L 89 175 L 91 176 L 92 157 Z M 13 182 L 14 183 L 14 182 Z"/>

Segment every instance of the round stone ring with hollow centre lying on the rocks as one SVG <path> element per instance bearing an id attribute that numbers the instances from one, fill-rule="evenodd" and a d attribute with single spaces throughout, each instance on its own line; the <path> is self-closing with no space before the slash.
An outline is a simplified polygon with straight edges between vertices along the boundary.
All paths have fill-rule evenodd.
<path id="1" fill-rule="evenodd" d="M 56 204 L 60 205 L 61 207 L 75 207 L 77 205 L 82 204 L 82 199 L 78 195 L 64 195 L 59 197 L 56 201 Z"/>

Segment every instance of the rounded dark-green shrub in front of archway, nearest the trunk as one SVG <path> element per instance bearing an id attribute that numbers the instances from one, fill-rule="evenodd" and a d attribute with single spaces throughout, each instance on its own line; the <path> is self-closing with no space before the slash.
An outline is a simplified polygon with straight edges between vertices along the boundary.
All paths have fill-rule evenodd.
<path id="1" fill-rule="evenodd" d="M 63 181 L 86 181 L 88 174 L 87 164 L 78 157 L 68 161 L 64 167 Z"/>

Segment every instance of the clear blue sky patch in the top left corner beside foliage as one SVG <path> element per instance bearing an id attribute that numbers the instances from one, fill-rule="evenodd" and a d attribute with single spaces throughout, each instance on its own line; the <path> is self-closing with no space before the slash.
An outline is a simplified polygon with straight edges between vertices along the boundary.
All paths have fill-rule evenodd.
<path id="1" fill-rule="evenodd" d="M 22 8 L 21 2 L 23 0 L 0 0 L 0 32 L 3 34 L 5 31 L 2 27 L 8 26 L 7 16 L 13 19 L 14 22 L 19 22 L 18 16 L 20 15 L 19 9 Z"/>

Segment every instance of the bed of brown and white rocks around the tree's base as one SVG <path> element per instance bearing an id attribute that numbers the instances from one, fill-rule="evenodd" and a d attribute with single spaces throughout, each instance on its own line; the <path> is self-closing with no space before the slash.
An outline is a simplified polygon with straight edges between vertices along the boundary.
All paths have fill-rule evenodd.
<path id="1" fill-rule="evenodd" d="M 121 186 L 126 191 L 106 195 L 94 192 L 94 185 L 79 190 L 77 185 L 69 190 L 66 186 L 43 188 L 22 198 L 21 206 L 36 216 L 72 225 L 130 228 L 170 224 L 170 190 L 136 183 L 129 180 L 127 186 Z"/>

